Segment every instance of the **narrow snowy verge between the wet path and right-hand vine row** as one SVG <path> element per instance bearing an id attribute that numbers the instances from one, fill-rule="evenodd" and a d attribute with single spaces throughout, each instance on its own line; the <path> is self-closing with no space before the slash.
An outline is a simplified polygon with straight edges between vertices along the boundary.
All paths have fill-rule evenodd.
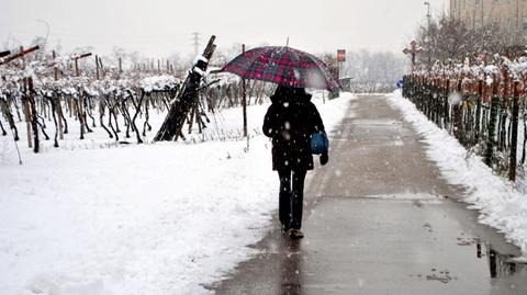
<path id="1" fill-rule="evenodd" d="M 467 189 L 464 200 L 478 209 L 480 222 L 502 231 L 527 254 L 527 196 L 495 175 L 481 157 L 469 154 L 456 138 L 428 121 L 400 91 L 389 97 L 391 105 L 424 137 L 427 157 L 451 184 Z"/>

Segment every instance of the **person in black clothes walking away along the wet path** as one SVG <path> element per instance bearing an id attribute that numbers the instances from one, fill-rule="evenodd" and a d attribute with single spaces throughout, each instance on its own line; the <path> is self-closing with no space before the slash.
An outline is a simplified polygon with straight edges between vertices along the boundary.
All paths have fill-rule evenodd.
<path id="1" fill-rule="evenodd" d="M 272 169 L 280 179 L 279 218 L 292 239 L 303 238 L 304 180 L 314 169 L 311 137 L 325 134 L 324 123 L 312 95 L 304 88 L 278 86 L 264 120 L 264 134 L 272 140 Z M 321 164 L 328 161 L 327 150 Z"/>

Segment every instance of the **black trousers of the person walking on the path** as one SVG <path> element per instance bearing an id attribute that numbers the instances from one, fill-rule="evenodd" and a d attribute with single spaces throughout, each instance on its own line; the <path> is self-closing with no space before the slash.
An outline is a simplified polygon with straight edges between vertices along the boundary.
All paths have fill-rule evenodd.
<path id="1" fill-rule="evenodd" d="M 302 205 L 304 202 L 304 180 L 307 171 L 280 170 L 280 223 L 285 228 L 300 229 L 302 226 Z"/>

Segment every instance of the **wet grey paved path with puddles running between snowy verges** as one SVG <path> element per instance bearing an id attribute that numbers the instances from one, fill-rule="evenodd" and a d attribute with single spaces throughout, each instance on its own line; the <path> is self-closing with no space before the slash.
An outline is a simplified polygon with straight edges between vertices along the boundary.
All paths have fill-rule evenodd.
<path id="1" fill-rule="evenodd" d="M 463 191 L 384 97 L 352 101 L 330 139 L 305 193 L 306 237 L 276 220 L 216 294 L 527 294 L 519 250 L 456 201 Z"/>

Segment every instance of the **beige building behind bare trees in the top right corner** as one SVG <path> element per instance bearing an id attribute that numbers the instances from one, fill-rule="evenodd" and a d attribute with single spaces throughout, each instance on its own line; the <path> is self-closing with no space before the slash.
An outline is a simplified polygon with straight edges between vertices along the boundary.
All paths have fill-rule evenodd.
<path id="1" fill-rule="evenodd" d="M 527 0 L 450 0 L 450 15 L 473 27 L 527 35 Z"/>

